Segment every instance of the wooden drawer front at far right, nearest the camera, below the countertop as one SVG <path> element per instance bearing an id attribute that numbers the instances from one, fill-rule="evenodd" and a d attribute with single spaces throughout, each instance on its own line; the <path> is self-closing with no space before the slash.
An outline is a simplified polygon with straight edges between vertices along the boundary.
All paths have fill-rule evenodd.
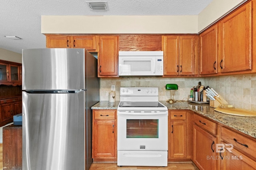
<path id="1" fill-rule="evenodd" d="M 230 143 L 233 147 L 244 154 L 250 154 L 256 158 L 256 141 L 249 139 L 243 135 L 240 135 L 230 129 L 221 127 L 221 139 L 225 143 Z"/>

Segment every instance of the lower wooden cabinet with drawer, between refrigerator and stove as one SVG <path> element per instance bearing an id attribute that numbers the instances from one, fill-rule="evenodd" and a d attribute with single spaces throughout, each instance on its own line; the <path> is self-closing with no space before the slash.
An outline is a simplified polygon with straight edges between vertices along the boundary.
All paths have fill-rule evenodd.
<path id="1" fill-rule="evenodd" d="M 92 114 L 92 158 L 96 162 L 116 161 L 116 110 L 93 109 Z"/>

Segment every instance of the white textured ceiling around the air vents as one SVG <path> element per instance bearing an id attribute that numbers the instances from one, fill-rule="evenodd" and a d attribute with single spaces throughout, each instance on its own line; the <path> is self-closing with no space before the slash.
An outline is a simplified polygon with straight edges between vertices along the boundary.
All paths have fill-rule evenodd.
<path id="1" fill-rule="evenodd" d="M 95 0 L 89 0 L 95 1 Z M 22 49 L 45 48 L 41 16 L 173 16 L 198 15 L 212 0 L 98 0 L 108 11 L 90 11 L 86 0 L 2 0 L 0 5 L 0 48 L 22 53 Z M 7 39 L 15 35 L 21 40 Z"/>

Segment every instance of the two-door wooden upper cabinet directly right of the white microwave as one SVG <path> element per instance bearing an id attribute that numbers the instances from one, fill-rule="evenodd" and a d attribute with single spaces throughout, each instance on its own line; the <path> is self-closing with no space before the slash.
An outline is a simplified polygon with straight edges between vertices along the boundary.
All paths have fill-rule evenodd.
<path id="1" fill-rule="evenodd" d="M 162 36 L 164 76 L 198 74 L 198 35 Z"/>

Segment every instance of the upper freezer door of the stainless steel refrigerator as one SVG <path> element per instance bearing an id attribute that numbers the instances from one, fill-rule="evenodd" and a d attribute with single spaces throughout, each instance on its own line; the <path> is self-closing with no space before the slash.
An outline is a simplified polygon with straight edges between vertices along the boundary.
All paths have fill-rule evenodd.
<path id="1" fill-rule="evenodd" d="M 23 49 L 22 90 L 85 89 L 84 49 Z"/>

